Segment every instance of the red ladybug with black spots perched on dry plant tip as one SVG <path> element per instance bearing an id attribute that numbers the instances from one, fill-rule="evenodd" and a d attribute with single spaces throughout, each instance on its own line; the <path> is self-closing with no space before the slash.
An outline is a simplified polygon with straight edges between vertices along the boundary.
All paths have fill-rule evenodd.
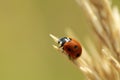
<path id="1" fill-rule="evenodd" d="M 62 37 L 58 40 L 59 48 L 68 55 L 70 59 L 77 59 L 81 56 L 82 48 L 78 41 L 69 37 Z"/>

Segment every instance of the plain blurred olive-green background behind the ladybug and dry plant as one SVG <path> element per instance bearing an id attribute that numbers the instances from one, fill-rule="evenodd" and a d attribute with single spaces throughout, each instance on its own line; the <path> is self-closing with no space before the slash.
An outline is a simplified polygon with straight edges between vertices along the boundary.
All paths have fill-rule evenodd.
<path id="1" fill-rule="evenodd" d="M 90 33 L 74 0 L 1 0 L 0 80 L 84 80 L 51 46 L 49 34 L 65 36 L 66 27 L 83 43 Z"/>

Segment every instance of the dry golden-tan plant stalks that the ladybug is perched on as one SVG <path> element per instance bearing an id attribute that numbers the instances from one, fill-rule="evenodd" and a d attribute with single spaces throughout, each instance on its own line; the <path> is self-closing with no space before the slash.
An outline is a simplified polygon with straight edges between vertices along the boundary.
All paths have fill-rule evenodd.
<path id="1" fill-rule="evenodd" d="M 89 52 L 71 60 L 87 80 L 120 80 L 120 14 L 110 0 L 76 0 L 91 24 L 98 44 L 86 39 Z M 58 42 L 58 38 L 50 34 Z M 99 47 L 98 47 L 99 45 Z M 57 50 L 59 47 L 54 46 Z"/>

